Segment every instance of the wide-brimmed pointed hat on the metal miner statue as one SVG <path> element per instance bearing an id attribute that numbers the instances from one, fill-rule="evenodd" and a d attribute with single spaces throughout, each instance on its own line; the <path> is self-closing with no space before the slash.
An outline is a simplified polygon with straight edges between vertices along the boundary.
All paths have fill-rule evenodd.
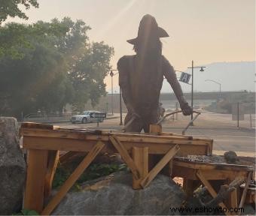
<path id="1" fill-rule="evenodd" d="M 139 23 L 138 36 L 136 38 L 127 40 L 127 42 L 134 45 L 148 37 L 169 37 L 169 34 L 167 34 L 163 28 L 160 28 L 157 25 L 157 20 L 154 17 L 146 14 L 144 17 L 142 17 L 142 20 Z"/>

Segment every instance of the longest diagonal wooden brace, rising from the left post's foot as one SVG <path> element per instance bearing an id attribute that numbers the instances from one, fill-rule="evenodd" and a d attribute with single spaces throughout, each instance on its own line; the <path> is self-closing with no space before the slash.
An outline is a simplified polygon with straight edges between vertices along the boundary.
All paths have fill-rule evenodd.
<path id="1" fill-rule="evenodd" d="M 82 160 L 75 171 L 69 176 L 65 183 L 62 184 L 62 186 L 59 188 L 59 191 L 55 196 L 53 196 L 53 199 L 50 200 L 50 202 L 41 212 L 42 215 L 49 215 L 54 210 L 54 208 L 56 208 L 56 205 L 59 204 L 61 199 L 66 195 L 72 185 L 75 184 L 75 181 L 77 181 L 80 175 L 84 172 L 84 169 L 86 169 L 87 166 L 89 166 L 93 159 L 97 156 L 97 154 L 99 154 L 99 151 L 102 150 L 104 145 L 105 144 L 101 141 L 97 142 L 97 144 L 87 154 L 87 156 L 84 157 L 84 160 Z"/>

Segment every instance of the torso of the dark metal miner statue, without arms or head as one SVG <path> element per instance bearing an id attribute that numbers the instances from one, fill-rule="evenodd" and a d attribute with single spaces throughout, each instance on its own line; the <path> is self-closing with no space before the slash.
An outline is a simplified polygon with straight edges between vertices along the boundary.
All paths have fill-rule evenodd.
<path id="1" fill-rule="evenodd" d="M 163 85 L 162 57 L 153 61 L 142 61 L 138 55 L 123 56 L 126 61 L 133 106 L 141 115 L 157 110 L 160 90 Z"/>

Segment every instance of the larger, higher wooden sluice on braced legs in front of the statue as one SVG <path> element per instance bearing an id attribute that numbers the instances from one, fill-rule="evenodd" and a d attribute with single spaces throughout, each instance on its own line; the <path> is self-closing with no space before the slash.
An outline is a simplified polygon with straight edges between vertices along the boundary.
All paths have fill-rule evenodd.
<path id="1" fill-rule="evenodd" d="M 174 156 L 211 155 L 212 139 L 194 139 L 173 133 L 117 133 L 110 130 L 66 129 L 49 124 L 23 123 L 20 128 L 23 148 L 27 150 L 27 178 L 24 208 L 50 214 L 75 181 L 99 153 L 119 153 L 133 175 L 133 188 L 147 187 L 166 164 L 172 166 Z M 51 184 L 59 161 L 59 151 L 87 152 L 59 191 L 50 196 Z M 148 169 L 149 156 L 163 157 Z M 63 156 L 65 157 L 65 155 Z M 132 187 L 132 185 L 131 185 Z"/>

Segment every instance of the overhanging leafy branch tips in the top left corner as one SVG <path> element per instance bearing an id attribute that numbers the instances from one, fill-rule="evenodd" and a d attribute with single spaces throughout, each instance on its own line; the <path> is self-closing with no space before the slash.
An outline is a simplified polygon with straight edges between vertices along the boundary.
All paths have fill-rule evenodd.
<path id="1" fill-rule="evenodd" d="M 19 5 L 23 5 L 26 10 L 31 6 L 38 7 L 37 0 L 0 0 L 0 25 L 9 17 L 20 17 L 21 19 L 28 20 L 29 17 L 20 10 Z"/>

